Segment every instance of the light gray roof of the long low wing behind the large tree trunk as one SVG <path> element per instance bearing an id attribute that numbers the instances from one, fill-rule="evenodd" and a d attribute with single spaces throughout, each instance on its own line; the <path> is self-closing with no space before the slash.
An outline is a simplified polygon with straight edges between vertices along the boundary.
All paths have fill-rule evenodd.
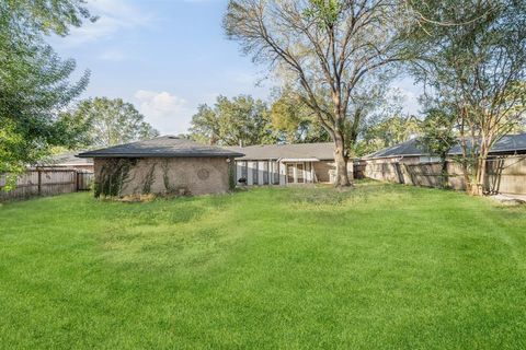
<path id="1" fill-rule="evenodd" d="M 229 147 L 231 151 L 244 153 L 241 161 L 263 161 L 278 159 L 318 159 L 333 160 L 334 143 L 262 144 L 249 147 Z"/>

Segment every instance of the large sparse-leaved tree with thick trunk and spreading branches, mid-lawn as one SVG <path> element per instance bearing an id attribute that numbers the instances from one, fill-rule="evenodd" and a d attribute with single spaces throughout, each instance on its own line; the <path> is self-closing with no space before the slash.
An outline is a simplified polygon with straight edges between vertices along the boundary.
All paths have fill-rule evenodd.
<path id="1" fill-rule="evenodd" d="M 356 86 L 403 56 L 388 0 L 231 0 L 227 35 L 286 75 L 334 141 L 336 186 L 348 186 L 346 128 Z M 351 121 L 353 124 L 353 121 Z"/>

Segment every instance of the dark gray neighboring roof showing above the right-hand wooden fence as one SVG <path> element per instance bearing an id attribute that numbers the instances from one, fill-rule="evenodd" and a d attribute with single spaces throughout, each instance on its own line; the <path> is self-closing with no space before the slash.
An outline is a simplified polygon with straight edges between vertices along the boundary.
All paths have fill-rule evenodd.
<path id="1" fill-rule="evenodd" d="M 495 142 L 491 148 L 490 153 L 524 153 L 526 152 L 526 133 L 506 135 Z M 460 144 L 456 144 L 449 151 L 449 154 L 460 154 Z M 402 142 L 386 149 L 379 150 L 375 153 L 365 155 L 364 159 L 379 159 L 392 156 L 420 156 L 428 155 L 430 153 L 419 144 L 416 139 Z"/>

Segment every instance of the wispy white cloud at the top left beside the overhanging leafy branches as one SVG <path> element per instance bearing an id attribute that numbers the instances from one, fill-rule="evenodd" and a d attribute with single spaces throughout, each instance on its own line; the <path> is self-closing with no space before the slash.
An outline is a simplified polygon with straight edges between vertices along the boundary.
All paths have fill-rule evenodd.
<path id="1" fill-rule="evenodd" d="M 114 37 L 118 32 L 147 26 L 151 15 L 124 0 L 93 0 L 88 3 L 95 23 L 84 22 L 72 28 L 70 35 L 60 40 L 61 45 L 76 46 L 89 42 Z"/>

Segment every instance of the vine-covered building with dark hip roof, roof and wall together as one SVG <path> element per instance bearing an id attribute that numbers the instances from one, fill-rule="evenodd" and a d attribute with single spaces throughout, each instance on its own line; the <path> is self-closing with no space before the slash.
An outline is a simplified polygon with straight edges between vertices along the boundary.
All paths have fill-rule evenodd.
<path id="1" fill-rule="evenodd" d="M 227 192 L 242 155 L 173 136 L 78 154 L 94 160 L 96 197 Z"/>

